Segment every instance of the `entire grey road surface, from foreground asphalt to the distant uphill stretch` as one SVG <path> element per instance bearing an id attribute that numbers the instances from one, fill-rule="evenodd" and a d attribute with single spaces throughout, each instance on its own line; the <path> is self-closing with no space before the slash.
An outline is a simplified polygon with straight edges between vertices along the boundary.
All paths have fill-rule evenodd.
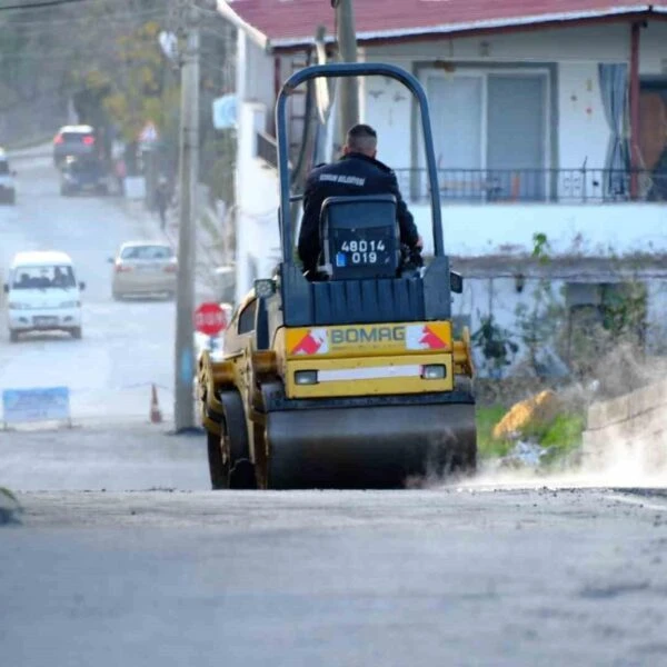
<path id="1" fill-rule="evenodd" d="M 49 165 L 30 173 L 0 211 L 0 261 L 72 253 L 86 330 L 0 340 L 1 385 L 64 378 L 117 424 L 0 431 L 0 486 L 23 508 L 0 526 L 2 665 L 667 665 L 664 490 L 487 475 L 209 491 L 202 436 L 125 419 L 147 399 L 123 387 L 171 381 L 173 306 L 110 300 L 104 260 L 145 230 L 111 201 L 61 200 Z"/>

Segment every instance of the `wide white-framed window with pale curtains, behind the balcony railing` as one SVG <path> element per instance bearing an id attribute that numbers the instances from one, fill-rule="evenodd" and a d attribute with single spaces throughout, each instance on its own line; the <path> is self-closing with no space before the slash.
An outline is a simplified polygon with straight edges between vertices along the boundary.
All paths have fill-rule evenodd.
<path id="1" fill-rule="evenodd" d="M 548 76 L 461 68 L 424 80 L 442 198 L 544 200 Z"/>

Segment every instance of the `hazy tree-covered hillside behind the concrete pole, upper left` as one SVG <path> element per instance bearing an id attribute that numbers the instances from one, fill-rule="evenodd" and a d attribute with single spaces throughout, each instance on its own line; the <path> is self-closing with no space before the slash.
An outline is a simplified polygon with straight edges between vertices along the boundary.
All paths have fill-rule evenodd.
<path id="1" fill-rule="evenodd" d="M 102 129 L 104 141 L 137 141 L 153 122 L 161 149 L 176 160 L 180 117 L 178 54 L 170 59 L 161 33 L 182 44 L 178 0 L 82 0 L 21 10 L 0 8 L 0 145 L 50 139 L 66 122 Z M 215 171 L 228 133 L 211 125 L 211 102 L 233 91 L 233 31 L 206 11 L 201 27 L 202 173 Z M 229 163 L 227 156 L 227 163 Z M 219 170 L 218 170 L 219 171 Z M 229 186 L 209 183 L 213 188 Z"/>

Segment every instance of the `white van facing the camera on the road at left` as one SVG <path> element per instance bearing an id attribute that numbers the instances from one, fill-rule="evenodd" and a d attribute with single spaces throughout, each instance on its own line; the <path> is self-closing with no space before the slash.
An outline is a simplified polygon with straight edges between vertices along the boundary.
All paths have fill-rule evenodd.
<path id="1" fill-rule="evenodd" d="M 19 252 L 4 285 L 9 339 L 28 331 L 69 331 L 81 338 L 81 295 L 72 260 L 66 252 Z"/>

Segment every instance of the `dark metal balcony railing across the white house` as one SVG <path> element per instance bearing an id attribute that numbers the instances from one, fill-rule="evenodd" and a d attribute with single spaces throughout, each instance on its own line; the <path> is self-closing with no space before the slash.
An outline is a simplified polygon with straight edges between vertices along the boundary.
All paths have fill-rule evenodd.
<path id="1" fill-rule="evenodd" d="M 428 203 L 425 169 L 395 169 L 401 193 Z M 636 192 L 633 197 L 633 175 Z M 667 201 L 667 171 L 613 169 L 440 169 L 444 203 Z"/>

